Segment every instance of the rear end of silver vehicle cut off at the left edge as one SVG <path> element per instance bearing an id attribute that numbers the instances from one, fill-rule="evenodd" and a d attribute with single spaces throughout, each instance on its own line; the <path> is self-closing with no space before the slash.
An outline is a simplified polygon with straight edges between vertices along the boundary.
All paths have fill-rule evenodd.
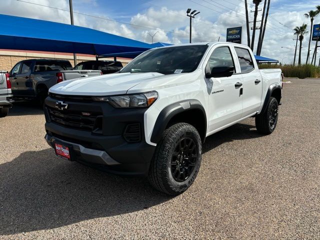
<path id="1" fill-rule="evenodd" d="M 8 114 L 8 109 L 13 102 L 12 96 L 9 73 L 0 70 L 0 117 Z"/>

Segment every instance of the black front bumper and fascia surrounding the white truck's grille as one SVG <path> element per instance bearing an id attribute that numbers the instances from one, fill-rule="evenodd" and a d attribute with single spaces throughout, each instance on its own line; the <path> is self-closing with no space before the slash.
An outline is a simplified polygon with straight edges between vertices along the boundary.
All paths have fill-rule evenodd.
<path id="1" fill-rule="evenodd" d="M 102 118 L 99 130 L 88 130 L 77 126 L 63 125 L 52 120 L 48 109 L 54 108 L 56 99 L 48 96 L 45 99 L 45 140 L 53 147 L 53 142 L 71 146 L 71 158 L 80 163 L 99 168 L 104 171 L 126 174 L 146 175 L 155 146 L 147 144 L 144 138 L 145 109 L 115 109 L 106 102 L 77 102 L 63 100 L 68 104 L 63 112 L 100 112 Z M 97 118 L 98 118 L 97 117 Z M 128 142 L 124 132 L 129 124 L 140 125 L 140 140 Z"/>

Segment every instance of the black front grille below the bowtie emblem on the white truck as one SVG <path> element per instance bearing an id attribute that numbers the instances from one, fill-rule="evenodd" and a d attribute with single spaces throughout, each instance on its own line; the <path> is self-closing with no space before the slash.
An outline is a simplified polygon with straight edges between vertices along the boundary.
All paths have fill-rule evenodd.
<path id="1" fill-rule="evenodd" d="M 60 125 L 87 131 L 101 128 L 100 124 L 102 124 L 102 121 L 96 121 L 102 117 L 101 112 L 80 112 L 69 109 L 59 110 L 52 107 L 47 108 L 51 121 Z"/>

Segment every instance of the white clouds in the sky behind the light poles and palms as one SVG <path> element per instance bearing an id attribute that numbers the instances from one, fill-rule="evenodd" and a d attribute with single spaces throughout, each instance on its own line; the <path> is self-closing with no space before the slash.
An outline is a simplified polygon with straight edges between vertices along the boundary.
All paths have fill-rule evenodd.
<path id="1" fill-rule="evenodd" d="M 227 2 L 221 2 L 222 5 L 227 5 L 230 8 L 234 8 L 233 11 L 220 9 L 210 5 L 209 8 L 199 6 L 197 4 L 190 4 L 192 9 L 199 9 L 200 14 L 192 19 L 192 41 L 216 41 L 220 37 L 220 41 L 225 41 L 226 28 L 234 26 L 242 26 L 242 37 L 243 43 L 246 43 L 246 28 L 245 28 L 245 17 L 244 17 L 244 4 L 243 2 L 236 0 L 232 1 L 233 4 Z M 32 0 L 34 3 L 42 5 L 50 5 L 62 9 L 68 9 L 67 0 Z M 129 24 L 123 24 L 111 20 L 107 14 L 94 13 L 94 9 L 99 7 L 98 0 L 77 0 L 77 6 L 90 7 L 92 15 L 99 16 L 101 18 L 94 18 L 81 14 L 74 13 L 74 22 L 76 25 L 86 26 L 97 30 L 117 34 L 136 40 L 145 42 L 151 42 L 151 36 L 147 34 L 149 32 L 153 35 L 158 31 L 154 37 L 153 42 L 161 41 L 168 43 L 184 43 L 189 40 L 189 18 L 186 16 L 185 7 L 183 1 L 163 0 L 161 3 L 154 1 L 156 4 L 163 4 L 161 7 L 150 7 L 153 1 L 145 3 L 145 10 L 137 12 L 131 16 L 130 22 L 134 25 L 141 25 L 147 28 L 132 26 Z M 312 8 L 317 3 L 314 0 L 308 0 L 307 2 L 292 3 L 289 5 L 282 6 L 282 8 L 272 7 L 275 1 L 271 2 L 270 16 L 274 17 L 282 24 L 289 28 L 294 28 L 297 25 L 301 25 L 303 22 L 309 23 L 309 19 L 303 17 L 303 13 L 306 11 L 306 7 Z M 150 4 L 149 4 L 150 3 Z M 191 2 L 190 2 L 191 3 Z M 206 4 L 202 2 L 203 4 Z M 155 5 L 156 5 L 155 4 Z M 234 4 L 236 7 L 234 7 Z M 279 4 L 278 2 L 275 4 Z M 166 6 L 165 6 L 166 5 Z M 208 4 L 206 4 L 208 5 Z M 262 4 L 261 6 L 262 7 Z M 249 11 L 252 10 L 249 8 Z M 280 10 L 279 10 L 280 9 Z M 77 9 L 73 7 L 73 10 Z M 218 13 L 214 10 L 223 12 L 224 14 Z M 37 19 L 51 20 L 62 23 L 69 23 L 69 12 L 58 10 L 54 8 L 38 6 L 30 3 L 25 3 L 17 0 L 2 0 L 0 13 L 17 15 L 24 17 L 32 17 Z M 125 12 L 123 12 L 125 13 Z M 261 12 L 258 14 L 258 18 L 261 17 Z M 292 40 L 293 32 L 286 26 L 281 25 L 272 17 L 268 18 L 267 31 L 265 33 L 262 55 L 280 59 L 283 57 L 283 61 L 289 63 L 293 61 L 293 51 L 287 48 L 281 48 L 281 46 L 294 48 L 295 41 Z M 250 20 L 253 18 L 253 13 L 250 13 Z M 319 19 L 316 19 L 319 20 Z M 154 29 L 153 29 L 154 28 Z M 309 25 L 308 25 L 309 28 Z M 250 34 L 252 31 L 250 30 Z M 255 46 L 257 44 L 257 37 L 259 30 L 256 31 Z M 308 34 L 305 36 L 302 48 L 302 61 L 305 61 Z M 311 46 L 314 45 L 312 42 Z M 311 48 L 313 49 L 313 48 Z M 281 59 L 280 59 L 281 60 Z"/>

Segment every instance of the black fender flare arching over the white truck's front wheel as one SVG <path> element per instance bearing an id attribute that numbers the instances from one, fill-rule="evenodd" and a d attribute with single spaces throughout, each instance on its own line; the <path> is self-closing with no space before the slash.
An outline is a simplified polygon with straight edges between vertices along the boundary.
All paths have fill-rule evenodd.
<path id="1" fill-rule="evenodd" d="M 172 103 L 166 107 L 164 107 L 158 117 L 156 118 L 153 130 L 152 130 L 152 135 L 151 135 L 151 142 L 154 143 L 158 143 L 162 133 L 164 132 L 168 122 L 172 119 L 173 116 L 175 116 L 176 114 L 179 114 L 183 111 L 187 111 L 187 110 L 192 110 L 192 109 L 199 109 L 202 111 L 203 116 L 204 116 L 204 121 L 205 121 L 205 131 L 206 131 L 206 114 L 205 114 L 205 110 L 204 107 L 202 106 L 202 104 L 196 100 L 196 99 L 186 99 L 186 100 L 182 100 L 182 101 L 178 101 L 175 103 Z M 199 132 L 200 135 L 204 134 L 204 137 L 206 135 L 206 132 Z"/>

